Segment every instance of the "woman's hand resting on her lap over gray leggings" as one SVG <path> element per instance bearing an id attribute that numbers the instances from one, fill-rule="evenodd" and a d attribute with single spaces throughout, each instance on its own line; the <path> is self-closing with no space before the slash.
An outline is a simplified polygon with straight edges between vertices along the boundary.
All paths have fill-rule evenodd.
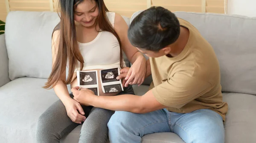
<path id="1" fill-rule="evenodd" d="M 81 105 L 70 98 L 65 104 L 65 108 L 67 111 L 67 116 L 75 123 L 84 122 L 86 117 L 84 115 L 84 110 Z M 79 111 L 79 112 L 78 112 Z"/>

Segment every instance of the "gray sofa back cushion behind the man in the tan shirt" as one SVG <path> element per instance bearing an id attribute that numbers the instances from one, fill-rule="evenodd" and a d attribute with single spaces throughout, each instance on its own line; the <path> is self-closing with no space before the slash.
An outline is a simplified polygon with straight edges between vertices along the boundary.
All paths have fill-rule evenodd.
<path id="1" fill-rule="evenodd" d="M 222 91 L 256 95 L 256 18 L 188 12 L 175 14 L 194 25 L 212 45 L 220 64 Z"/>

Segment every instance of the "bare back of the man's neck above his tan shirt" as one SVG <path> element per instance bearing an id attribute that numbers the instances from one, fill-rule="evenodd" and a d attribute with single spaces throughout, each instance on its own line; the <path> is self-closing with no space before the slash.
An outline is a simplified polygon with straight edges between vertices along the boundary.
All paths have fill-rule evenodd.
<path id="1" fill-rule="evenodd" d="M 183 26 L 180 26 L 180 36 L 176 42 L 174 42 L 172 45 L 169 45 L 171 48 L 171 51 L 167 56 L 169 57 L 178 56 L 185 48 L 188 40 L 189 40 L 189 29 Z"/>

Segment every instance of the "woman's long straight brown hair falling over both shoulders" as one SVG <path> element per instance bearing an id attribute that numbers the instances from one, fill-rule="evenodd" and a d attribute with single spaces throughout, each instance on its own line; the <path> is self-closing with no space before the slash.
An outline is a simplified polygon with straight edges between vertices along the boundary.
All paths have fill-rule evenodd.
<path id="1" fill-rule="evenodd" d="M 58 83 L 58 80 L 61 78 L 61 74 L 66 69 L 67 62 L 69 65 L 69 70 L 67 79 L 63 81 L 64 84 L 70 84 L 74 80 L 73 73 L 78 66 L 78 62 L 80 62 L 80 70 L 82 70 L 84 67 L 84 59 L 80 53 L 79 46 L 76 41 L 76 26 L 74 20 L 74 10 L 76 6 L 83 1 L 84 0 L 59 0 L 59 17 L 61 18 L 61 21 L 53 30 L 53 33 L 56 30 L 60 31 L 58 37 L 59 46 L 55 62 L 52 65 L 52 72 L 44 88 L 53 88 Z M 108 8 L 105 6 L 103 0 L 95 1 L 99 6 L 99 16 L 96 18 L 96 25 L 99 25 L 99 29 L 101 31 L 108 31 L 116 36 L 120 45 L 120 67 L 122 67 L 123 57 L 121 40 L 108 20 L 106 15 Z M 96 31 L 99 32 L 97 28 Z"/>

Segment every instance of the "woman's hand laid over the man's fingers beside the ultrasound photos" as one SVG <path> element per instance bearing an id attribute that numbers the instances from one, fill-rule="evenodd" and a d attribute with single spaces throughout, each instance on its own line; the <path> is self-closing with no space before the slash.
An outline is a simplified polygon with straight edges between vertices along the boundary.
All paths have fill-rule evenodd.
<path id="1" fill-rule="evenodd" d="M 120 70 L 120 73 L 122 74 L 117 79 L 122 79 L 124 75 L 125 79 L 123 82 L 125 82 L 125 87 L 128 87 L 128 85 L 138 84 L 139 86 L 144 82 L 145 74 L 146 74 L 146 59 L 144 56 L 140 56 L 136 59 L 134 64 L 132 64 L 131 68 L 125 67 L 122 70 Z"/>

